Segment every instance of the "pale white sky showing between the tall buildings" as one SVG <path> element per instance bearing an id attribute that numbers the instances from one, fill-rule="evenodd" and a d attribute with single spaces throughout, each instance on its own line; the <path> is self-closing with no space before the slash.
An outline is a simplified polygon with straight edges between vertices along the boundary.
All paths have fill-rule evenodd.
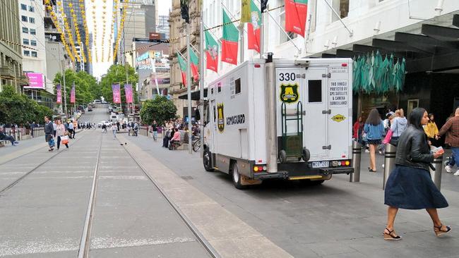
<path id="1" fill-rule="evenodd" d="M 168 15 L 169 14 L 169 9 L 172 6 L 172 0 L 159 0 L 158 1 L 158 14 L 161 15 Z M 102 75 L 107 73 L 107 70 L 110 66 L 113 64 L 113 56 L 110 54 L 110 59 L 109 58 L 109 51 L 113 53 L 112 49 L 112 44 L 114 42 L 114 38 L 116 38 L 116 35 L 112 35 L 111 32 L 111 27 L 112 27 L 112 6 L 113 6 L 113 0 L 107 0 L 106 4 L 102 0 L 96 0 L 94 1 L 95 8 L 93 8 L 93 1 L 90 0 L 85 0 L 85 6 L 86 6 L 86 13 L 87 13 L 87 23 L 88 23 L 88 30 L 90 33 L 95 32 L 96 36 L 96 42 L 93 42 L 93 75 L 95 78 L 100 79 Z M 106 8 L 103 8 L 103 6 L 106 6 Z M 96 16 L 96 27 L 94 26 L 93 22 L 93 11 L 95 11 L 95 16 Z M 103 11 L 105 11 L 105 16 Z M 126 16 L 126 20 L 129 19 L 129 16 Z M 104 27 L 104 21 L 105 20 L 105 37 L 104 37 L 104 42 L 102 44 L 102 32 L 103 32 L 103 27 Z M 104 56 L 102 59 L 102 47 L 104 50 Z M 97 62 L 95 59 L 95 54 L 97 52 Z M 119 52 L 119 54 L 121 54 Z"/>

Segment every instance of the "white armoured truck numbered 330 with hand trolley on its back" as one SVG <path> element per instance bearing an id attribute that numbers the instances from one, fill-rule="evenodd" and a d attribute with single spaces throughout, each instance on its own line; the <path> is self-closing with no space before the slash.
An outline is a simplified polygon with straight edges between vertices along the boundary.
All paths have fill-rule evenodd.
<path id="1" fill-rule="evenodd" d="M 352 59 L 254 59 L 208 85 L 207 171 L 236 188 L 353 173 Z"/>

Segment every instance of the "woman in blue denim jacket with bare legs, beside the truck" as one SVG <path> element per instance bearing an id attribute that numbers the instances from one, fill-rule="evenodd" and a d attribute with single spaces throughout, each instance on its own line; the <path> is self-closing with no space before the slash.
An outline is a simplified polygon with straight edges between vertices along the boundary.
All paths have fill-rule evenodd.
<path id="1" fill-rule="evenodd" d="M 377 109 L 371 109 L 364 125 L 366 142 L 370 147 L 370 172 L 376 172 L 376 147 L 381 145 L 381 138 L 384 133 L 384 125 Z"/>

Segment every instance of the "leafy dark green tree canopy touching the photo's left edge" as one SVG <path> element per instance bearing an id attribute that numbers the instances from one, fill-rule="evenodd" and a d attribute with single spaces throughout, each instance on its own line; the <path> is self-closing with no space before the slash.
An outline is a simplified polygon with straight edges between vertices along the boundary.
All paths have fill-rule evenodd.
<path id="1" fill-rule="evenodd" d="M 10 85 L 5 85 L 0 92 L 0 123 L 40 123 L 44 116 L 52 114 L 47 106 L 38 104 L 24 94 L 16 93 Z"/>

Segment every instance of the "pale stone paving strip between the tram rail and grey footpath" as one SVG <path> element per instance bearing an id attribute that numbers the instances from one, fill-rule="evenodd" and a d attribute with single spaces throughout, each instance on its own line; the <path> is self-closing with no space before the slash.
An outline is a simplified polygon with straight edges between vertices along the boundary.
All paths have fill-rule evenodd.
<path id="1" fill-rule="evenodd" d="M 222 257 L 292 257 L 126 137 L 118 140 Z"/>

